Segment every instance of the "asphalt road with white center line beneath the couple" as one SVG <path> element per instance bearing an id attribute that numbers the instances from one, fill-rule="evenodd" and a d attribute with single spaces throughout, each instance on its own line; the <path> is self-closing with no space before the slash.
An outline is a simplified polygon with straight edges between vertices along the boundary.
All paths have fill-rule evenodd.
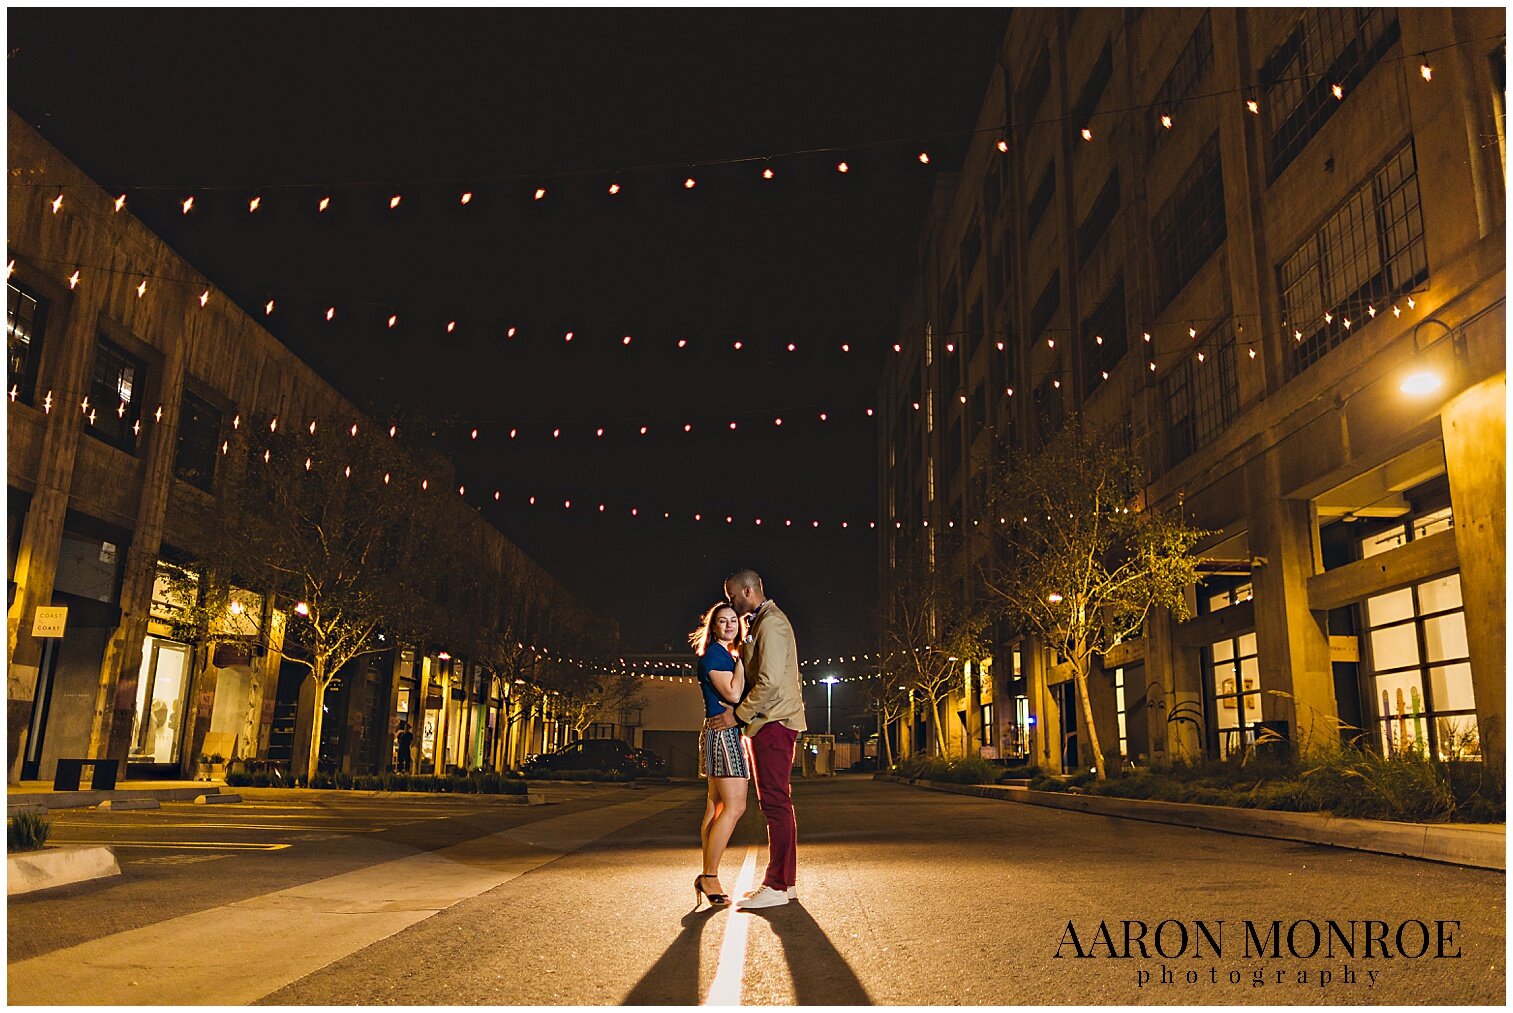
<path id="1" fill-rule="evenodd" d="M 1505 996 L 1496 872 L 841 777 L 796 785 L 799 903 L 749 915 L 693 912 L 697 788 L 555 794 L 561 801 L 531 807 L 322 792 L 59 813 L 54 839 L 112 842 L 123 875 L 9 903 L 9 999 L 988 1005 Z M 760 881 L 764 839 L 752 804 L 726 854 L 728 888 Z M 1156 949 L 1165 919 L 1176 919 L 1160 927 L 1170 957 Z M 1354 957 L 1328 934 L 1334 921 L 1348 936 L 1353 919 Z M 1274 921 L 1280 954 L 1269 942 Z M 1366 921 L 1387 927 L 1387 945 L 1375 943 L 1369 957 Z M 1112 945 L 1095 942 L 1100 922 Z M 1265 953 L 1247 953 L 1247 922 Z M 1413 956 L 1418 922 L 1428 930 L 1422 957 Z M 1459 956 L 1436 956 L 1436 922 L 1459 922 L 1443 928 L 1452 934 L 1445 953 Z M 1324 945 L 1307 956 L 1315 925 L 1333 956 Z M 1298 956 L 1288 949 L 1289 930 Z"/>

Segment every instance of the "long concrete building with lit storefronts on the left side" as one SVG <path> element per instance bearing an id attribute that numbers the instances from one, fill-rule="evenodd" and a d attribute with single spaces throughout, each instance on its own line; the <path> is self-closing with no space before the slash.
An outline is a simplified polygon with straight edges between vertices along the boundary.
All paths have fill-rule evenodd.
<path id="1" fill-rule="evenodd" d="M 235 422 L 362 413 L 15 113 L 9 163 L 12 779 L 48 779 L 61 756 L 139 776 L 191 774 L 215 753 L 300 771 L 312 748 L 324 767 L 381 771 L 401 720 L 421 771 L 498 768 L 563 741 L 549 694 L 436 643 L 353 662 L 312 745 L 307 668 L 280 652 L 287 602 L 239 593 L 218 643 L 179 635 L 165 572 L 215 516 Z M 483 570 L 534 570 L 455 510 Z M 33 635 L 38 606 L 68 608 L 62 637 Z"/>

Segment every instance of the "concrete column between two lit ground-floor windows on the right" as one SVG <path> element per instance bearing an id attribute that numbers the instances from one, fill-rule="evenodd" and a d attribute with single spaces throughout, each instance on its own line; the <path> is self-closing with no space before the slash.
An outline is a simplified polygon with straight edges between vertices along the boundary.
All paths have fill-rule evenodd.
<path id="1" fill-rule="evenodd" d="M 1251 578 L 1260 712 L 1288 721 L 1300 753 L 1339 744 L 1339 708 L 1328 655 L 1328 612 L 1309 609 L 1309 578 L 1318 573 L 1313 516 L 1307 500 L 1283 499 L 1277 455 L 1250 469 L 1250 546 L 1265 558 Z M 1280 691 L 1288 695 L 1274 695 Z"/>

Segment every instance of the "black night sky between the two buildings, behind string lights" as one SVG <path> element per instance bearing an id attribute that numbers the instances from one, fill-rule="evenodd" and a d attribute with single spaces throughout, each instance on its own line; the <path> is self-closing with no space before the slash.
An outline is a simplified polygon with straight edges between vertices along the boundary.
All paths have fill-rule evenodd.
<path id="1" fill-rule="evenodd" d="M 362 408 L 424 419 L 628 650 L 752 565 L 823 658 L 876 641 L 864 410 L 1006 17 L 12 9 L 9 103 Z"/>

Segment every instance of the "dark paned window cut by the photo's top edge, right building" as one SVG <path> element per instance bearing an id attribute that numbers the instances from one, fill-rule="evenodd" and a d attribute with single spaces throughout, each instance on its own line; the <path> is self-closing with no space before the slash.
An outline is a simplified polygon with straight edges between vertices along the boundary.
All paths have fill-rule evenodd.
<path id="1" fill-rule="evenodd" d="M 1292 165 L 1309 141 L 1398 41 L 1398 15 L 1387 8 L 1315 8 L 1260 70 L 1268 181 Z"/>

